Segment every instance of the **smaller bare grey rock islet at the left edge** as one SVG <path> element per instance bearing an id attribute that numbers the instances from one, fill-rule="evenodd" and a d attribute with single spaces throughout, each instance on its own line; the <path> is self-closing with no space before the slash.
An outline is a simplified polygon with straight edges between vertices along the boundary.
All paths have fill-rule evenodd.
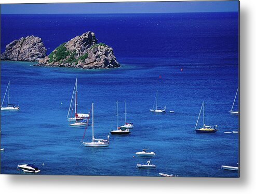
<path id="1" fill-rule="evenodd" d="M 1 54 L 2 60 L 10 61 L 38 61 L 46 56 L 46 48 L 42 39 L 27 36 L 7 44 L 5 52 Z"/>

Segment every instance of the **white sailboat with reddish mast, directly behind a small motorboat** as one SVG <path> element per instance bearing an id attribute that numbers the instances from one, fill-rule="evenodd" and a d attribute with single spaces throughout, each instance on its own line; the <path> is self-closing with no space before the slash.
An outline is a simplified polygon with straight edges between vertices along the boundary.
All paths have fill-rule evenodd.
<path id="1" fill-rule="evenodd" d="M 74 98 L 74 96 L 75 96 L 75 98 Z M 72 117 L 74 103 L 75 103 L 75 116 Z M 72 107 L 72 110 L 71 110 L 71 107 Z M 70 115 L 70 110 L 71 110 L 71 115 Z M 69 118 L 69 115 L 71 116 L 70 118 Z M 76 78 L 75 86 L 73 89 L 73 95 L 72 95 L 72 98 L 70 101 L 70 108 L 69 108 L 68 116 L 66 116 L 66 118 L 68 118 L 68 121 L 77 122 L 77 121 L 82 121 L 88 117 L 89 117 L 89 114 L 77 113 L 77 78 Z"/>

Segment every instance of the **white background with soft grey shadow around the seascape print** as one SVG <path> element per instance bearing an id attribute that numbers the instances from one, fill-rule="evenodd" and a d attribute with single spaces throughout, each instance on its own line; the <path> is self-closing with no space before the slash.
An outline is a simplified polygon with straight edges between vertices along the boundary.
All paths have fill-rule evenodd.
<path id="1" fill-rule="evenodd" d="M 122 1 L 122 0 L 120 0 Z M 124 1 L 124 0 L 123 0 Z M 134 0 L 133 0 L 134 1 Z M 4 3 L 110 2 L 1 0 Z M 111 0 L 111 2 L 119 2 Z M 131 2 L 131 1 L 130 1 Z M 240 1 L 240 178 L 0 175 L 0 193 L 255 193 L 256 1 Z M 102 161 L 104 162 L 104 161 Z M 254 191 L 253 191 L 254 190 Z"/>

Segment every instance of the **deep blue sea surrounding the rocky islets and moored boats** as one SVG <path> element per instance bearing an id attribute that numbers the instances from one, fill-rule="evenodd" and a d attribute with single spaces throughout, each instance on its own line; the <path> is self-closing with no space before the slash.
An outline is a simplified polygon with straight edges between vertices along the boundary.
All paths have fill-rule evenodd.
<path id="1" fill-rule="evenodd" d="M 16 170 L 18 163 L 35 163 L 39 174 L 50 175 L 239 176 L 220 169 L 239 162 L 239 133 L 224 133 L 239 130 L 238 116 L 228 112 L 239 84 L 238 12 L 1 14 L 1 52 L 12 40 L 34 35 L 49 54 L 87 31 L 114 49 L 122 67 L 1 62 L 1 98 L 10 81 L 10 102 L 20 106 L 19 112 L 1 111 L 2 174 L 24 174 Z M 134 123 L 129 135 L 112 135 L 104 148 L 81 144 L 85 128 L 70 128 L 66 121 L 76 78 L 78 112 L 95 104 L 95 137 L 106 138 L 115 128 L 117 100 L 120 124 L 124 100 L 127 121 Z M 149 111 L 156 90 L 165 114 Z M 194 130 L 203 100 L 205 123 L 218 125 L 216 133 Z M 91 128 L 84 141 L 91 141 Z M 143 147 L 156 153 L 151 160 L 156 169 L 136 168 L 147 161 L 135 154 Z"/>

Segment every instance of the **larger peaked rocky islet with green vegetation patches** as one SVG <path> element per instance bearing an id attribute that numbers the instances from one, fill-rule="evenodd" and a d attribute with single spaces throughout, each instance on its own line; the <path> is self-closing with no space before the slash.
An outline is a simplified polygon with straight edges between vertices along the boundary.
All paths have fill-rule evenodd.
<path id="1" fill-rule="evenodd" d="M 39 66 L 101 69 L 120 67 L 113 49 L 98 40 L 93 32 L 87 32 L 62 43 L 45 58 Z"/>

